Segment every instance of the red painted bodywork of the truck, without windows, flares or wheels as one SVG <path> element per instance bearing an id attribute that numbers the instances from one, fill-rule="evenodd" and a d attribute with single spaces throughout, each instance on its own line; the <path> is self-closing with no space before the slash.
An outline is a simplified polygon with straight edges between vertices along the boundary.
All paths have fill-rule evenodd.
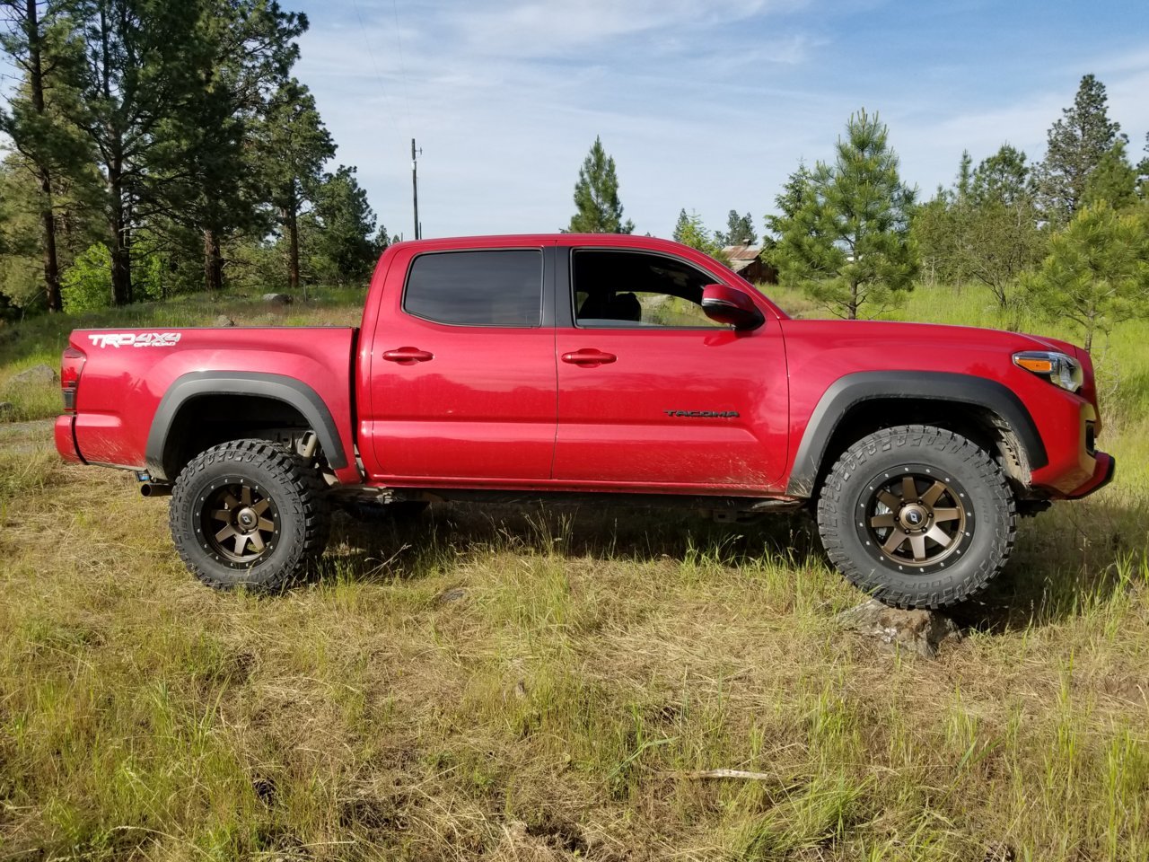
<path id="1" fill-rule="evenodd" d="M 574 247 L 685 260 L 746 293 L 765 323 L 750 332 L 483 328 L 432 323 L 402 309 L 418 254 L 538 248 L 561 260 Z M 72 333 L 87 362 L 77 391 L 78 451 L 70 417 L 56 426 L 64 457 L 142 468 L 156 408 L 182 375 L 262 371 L 306 383 L 323 399 L 352 461 L 338 471 L 344 483 L 363 480 L 357 451 L 372 485 L 781 495 L 810 418 L 835 380 L 905 370 L 964 374 L 1012 391 L 1048 455 L 1032 483 L 1050 497 L 1088 493 L 1111 472 L 1106 455 L 1086 451 L 1086 423 L 1095 431 L 1101 424 L 1092 365 L 1072 345 L 958 326 L 791 320 L 709 256 L 649 237 L 400 243 L 376 267 L 357 341 L 352 329 L 164 331 L 178 332 L 178 344 L 97 347 L 91 337 L 100 333 Z M 406 348 L 419 359 L 384 359 Z M 615 359 L 562 359 L 587 349 Z M 1086 374 L 1080 393 L 1017 368 L 1012 354 L 1025 349 L 1075 355 Z"/>

